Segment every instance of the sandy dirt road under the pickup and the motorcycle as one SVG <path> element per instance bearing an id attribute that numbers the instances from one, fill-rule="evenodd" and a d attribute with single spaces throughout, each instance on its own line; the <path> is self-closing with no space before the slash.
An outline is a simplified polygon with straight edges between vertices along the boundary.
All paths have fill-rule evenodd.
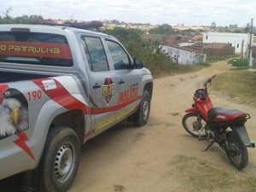
<path id="1" fill-rule="evenodd" d="M 249 164 L 238 172 L 218 144 L 204 152 L 207 142 L 189 136 L 181 125 L 183 111 L 191 106 L 195 89 L 214 73 L 229 68 L 220 61 L 200 72 L 155 79 L 148 125 L 137 128 L 123 122 L 85 143 L 78 175 L 68 192 L 183 192 L 182 180 L 170 174 L 172 160 L 181 155 L 204 160 L 219 170 L 256 176 L 256 149 L 248 148 Z M 209 92 L 215 107 L 251 114 L 247 131 L 256 141 L 256 108 L 211 88 Z"/>

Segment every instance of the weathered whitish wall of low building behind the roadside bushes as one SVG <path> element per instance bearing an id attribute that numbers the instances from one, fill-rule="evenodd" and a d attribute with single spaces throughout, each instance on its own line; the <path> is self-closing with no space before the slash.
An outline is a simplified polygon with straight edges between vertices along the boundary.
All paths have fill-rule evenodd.
<path id="1" fill-rule="evenodd" d="M 179 46 L 162 46 L 162 51 L 179 65 L 197 65 L 206 62 L 206 54 L 196 53 L 193 49 Z"/>

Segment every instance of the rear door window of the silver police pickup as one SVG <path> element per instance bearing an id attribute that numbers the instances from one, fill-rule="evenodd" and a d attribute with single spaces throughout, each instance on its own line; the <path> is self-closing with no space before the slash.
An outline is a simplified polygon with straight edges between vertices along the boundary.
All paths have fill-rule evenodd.
<path id="1" fill-rule="evenodd" d="M 108 60 L 100 38 L 84 37 L 82 39 L 84 51 L 90 70 L 93 72 L 108 71 Z"/>

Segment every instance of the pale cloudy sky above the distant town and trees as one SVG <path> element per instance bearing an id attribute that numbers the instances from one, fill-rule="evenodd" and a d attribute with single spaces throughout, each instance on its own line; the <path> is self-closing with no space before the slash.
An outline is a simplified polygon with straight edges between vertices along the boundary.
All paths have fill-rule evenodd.
<path id="1" fill-rule="evenodd" d="M 256 23 L 255 0 L 0 0 L 0 15 L 44 19 L 120 20 L 185 26 L 246 26 Z"/>

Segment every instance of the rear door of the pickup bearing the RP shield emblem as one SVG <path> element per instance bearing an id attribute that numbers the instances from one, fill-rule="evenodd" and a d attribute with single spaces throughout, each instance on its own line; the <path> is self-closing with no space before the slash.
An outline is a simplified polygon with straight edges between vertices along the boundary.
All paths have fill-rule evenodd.
<path id="1" fill-rule="evenodd" d="M 84 36 L 82 43 L 90 67 L 90 111 L 96 120 L 97 134 L 113 124 L 109 119 L 117 113 L 118 78 L 117 73 L 110 70 L 101 38 Z"/>

